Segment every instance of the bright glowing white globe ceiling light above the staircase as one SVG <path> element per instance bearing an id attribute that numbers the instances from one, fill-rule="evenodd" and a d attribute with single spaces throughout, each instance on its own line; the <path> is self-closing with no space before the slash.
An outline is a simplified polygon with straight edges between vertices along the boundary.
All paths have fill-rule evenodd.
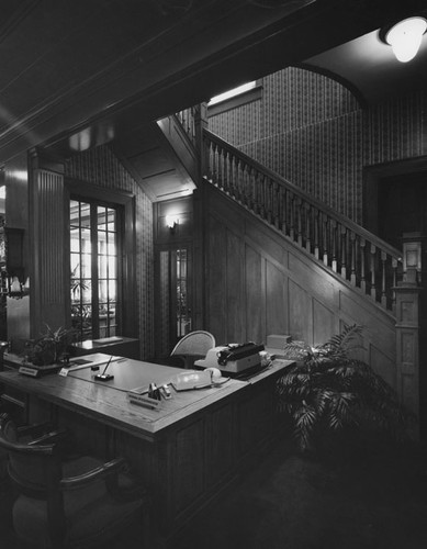
<path id="1" fill-rule="evenodd" d="M 424 18 L 408 18 L 381 32 L 380 38 L 392 46 L 398 61 L 407 63 L 417 55 L 426 30 L 427 21 Z"/>

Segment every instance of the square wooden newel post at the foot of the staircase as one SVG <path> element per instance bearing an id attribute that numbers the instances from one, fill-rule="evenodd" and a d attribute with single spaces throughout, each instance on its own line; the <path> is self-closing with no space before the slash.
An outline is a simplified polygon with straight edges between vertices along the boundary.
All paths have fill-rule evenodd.
<path id="1" fill-rule="evenodd" d="M 420 235 L 403 238 L 403 280 L 396 293 L 396 390 L 401 402 L 419 417 L 419 366 L 422 330 L 422 255 Z"/>

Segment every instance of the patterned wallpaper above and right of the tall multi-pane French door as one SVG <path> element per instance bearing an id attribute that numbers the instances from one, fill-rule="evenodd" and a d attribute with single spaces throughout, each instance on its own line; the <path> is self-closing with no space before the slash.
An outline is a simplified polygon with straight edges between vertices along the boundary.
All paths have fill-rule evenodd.
<path id="1" fill-rule="evenodd" d="M 125 170 L 111 149 L 99 146 L 74 156 L 66 165 L 66 176 L 108 189 L 132 192 L 136 197 L 136 280 L 137 312 L 142 358 L 154 356 L 154 273 L 153 204 Z"/>

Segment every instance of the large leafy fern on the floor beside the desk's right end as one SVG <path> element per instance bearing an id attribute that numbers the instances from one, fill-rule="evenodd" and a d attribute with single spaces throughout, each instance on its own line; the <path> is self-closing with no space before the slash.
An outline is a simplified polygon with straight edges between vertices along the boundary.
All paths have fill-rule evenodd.
<path id="1" fill-rule="evenodd" d="M 379 433 L 405 436 L 411 413 L 394 390 L 369 365 L 356 357 L 362 328 L 314 347 L 291 341 L 284 358 L 295 360 L 278 380 L 279 410 L 291 419 L 299 447 L 317 450 L 336 434 Z"/>

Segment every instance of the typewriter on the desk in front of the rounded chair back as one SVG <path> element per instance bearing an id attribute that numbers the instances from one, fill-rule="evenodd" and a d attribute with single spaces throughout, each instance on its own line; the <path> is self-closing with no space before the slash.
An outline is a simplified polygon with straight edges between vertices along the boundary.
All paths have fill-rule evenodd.
<path id="1" fill-rule="evenodd" d="M 240 373 L 260 366 L 260 352 L 263 349 L 263 345 L 252 341 L 222 345 L 209 349 L 206 358 L 204 360 L 198 360 L 195 366 L 218 368 L 222 372 L 227 373 Z"/>

